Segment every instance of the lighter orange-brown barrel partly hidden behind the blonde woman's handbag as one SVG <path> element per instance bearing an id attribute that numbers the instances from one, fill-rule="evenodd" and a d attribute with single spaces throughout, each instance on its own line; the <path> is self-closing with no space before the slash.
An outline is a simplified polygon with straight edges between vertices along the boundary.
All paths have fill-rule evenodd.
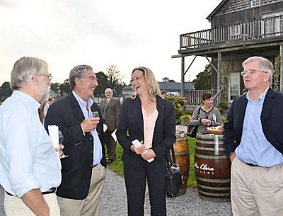
<path id="1" fill-rule="evenodd" d="M 178 164 L 183 171 L 183 185 L 177 195 L 183 195 L 187 191 L 187 178 L 190 169 L 189 147 L 187 144 L 187 134 L 185 132 L 176 134 L 176 138 L 177 140 L 173 144 L 176 164 Z"/>

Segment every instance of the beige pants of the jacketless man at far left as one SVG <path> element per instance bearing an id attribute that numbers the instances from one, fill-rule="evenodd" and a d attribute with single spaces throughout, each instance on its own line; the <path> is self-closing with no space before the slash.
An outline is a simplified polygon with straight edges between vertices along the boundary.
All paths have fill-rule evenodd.
<path id="1" fill-rule="evenodd" d="M 50 216 L 60 216 L 59 205 L 55 193 L 43 195 L 47 203 Z M 23 203 L 17 196 L 7 195 L 5 193 L 4 208 L 7 216 L 35 216 L 35 214 Z"/>

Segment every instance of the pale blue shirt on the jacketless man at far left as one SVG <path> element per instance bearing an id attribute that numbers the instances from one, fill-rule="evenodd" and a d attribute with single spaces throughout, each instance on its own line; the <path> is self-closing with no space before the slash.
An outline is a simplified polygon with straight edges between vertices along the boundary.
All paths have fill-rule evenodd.
<path id="1" fill-rule="evenodd" d="M 20 198 L 32 189 L 45 192 L 61 183 L 57 154 L 40 123 L 39 107 L 22 91 L 13 91 L 0 106 L 0 183 Z"/>

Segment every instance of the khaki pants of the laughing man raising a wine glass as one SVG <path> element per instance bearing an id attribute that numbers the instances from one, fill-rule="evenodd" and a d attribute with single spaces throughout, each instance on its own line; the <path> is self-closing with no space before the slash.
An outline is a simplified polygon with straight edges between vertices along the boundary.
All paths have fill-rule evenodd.
<path id="1" fill-rule="evenodd" d="M 105 179 L 105 168 L 98 165 L 91 174 L 91 186 L 84 200 L 73 200 L 58 197 L 62 216 L 99 216 L 100 195 Z"/>

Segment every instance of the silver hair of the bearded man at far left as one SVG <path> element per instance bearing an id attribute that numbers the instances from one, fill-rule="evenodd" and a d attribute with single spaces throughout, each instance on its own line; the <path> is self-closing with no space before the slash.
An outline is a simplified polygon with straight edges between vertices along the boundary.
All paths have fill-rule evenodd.
<path id="1" fill-rule="evenodd" d="M 48 65 L 42 59 L 35 57 L 21 57 L 15 64 L 11 72 L 11 89 L 18 90 L 23 83 L 26 83 L 28 77 L 33 74 L 44 74 L 48 69 Z"/>

